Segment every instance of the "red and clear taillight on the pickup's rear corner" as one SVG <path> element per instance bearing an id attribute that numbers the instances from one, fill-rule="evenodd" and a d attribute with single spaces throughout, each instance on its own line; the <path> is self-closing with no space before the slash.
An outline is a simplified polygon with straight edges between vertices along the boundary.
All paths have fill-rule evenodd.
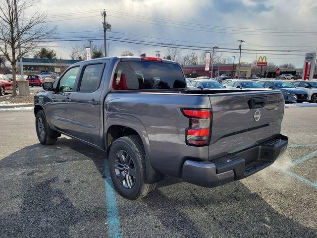
<path id="1" fill-rule="evenodd" d="M 186 129 L 186 144 L 206 146 L 211 138 L 211 109 L 181 109 L 185 117 L 189 118 Z"/>

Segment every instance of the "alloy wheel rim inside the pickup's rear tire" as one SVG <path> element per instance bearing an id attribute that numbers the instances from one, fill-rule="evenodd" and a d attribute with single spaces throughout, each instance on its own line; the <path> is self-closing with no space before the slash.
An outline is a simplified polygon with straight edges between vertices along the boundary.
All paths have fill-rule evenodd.
<path id="1" fill-rule="evenodd" d="M 125 188 L 132 188 L 136 181 L 135 165 L 131 156 L 124 150 L 119 150 L 114 159 L 114 171 L 119 182 Z"/>

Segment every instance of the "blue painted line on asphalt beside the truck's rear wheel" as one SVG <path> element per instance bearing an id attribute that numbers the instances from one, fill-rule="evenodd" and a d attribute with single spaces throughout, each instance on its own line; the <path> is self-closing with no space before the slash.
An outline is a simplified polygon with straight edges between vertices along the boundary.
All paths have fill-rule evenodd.
<path id="1" fill-rule="evenodd" d="M 109 173 L 108 160 L 105 159 L 105 187 L 108 238 L 121 238 L 120 218 L 118 214 L 115 190 Z"/>

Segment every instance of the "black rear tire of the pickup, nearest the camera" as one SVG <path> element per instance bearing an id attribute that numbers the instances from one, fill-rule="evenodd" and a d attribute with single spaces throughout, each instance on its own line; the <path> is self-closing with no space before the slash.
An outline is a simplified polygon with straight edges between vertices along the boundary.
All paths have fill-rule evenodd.
<path id="1" fill-rule="evenodd" d="M 121 167 L 118 163 L 118 159 L 119 162 L 121 162 L 118 154 L 121 153 L 122 155 L 124 152 L 129 155 L 129 159 L 127 159 L 126 156 L 126 159 L 123 159 L 123 161 L 129 161 L 127 164 L 124 164 L 125 167 Z M 121 196 L 127 199 L 136 200 L 147 196 L 155 190 L 156 183 L 147 182 L 145 152 L 139 136 L 124 136 L 116 139 L 110 147 L 108 160 L 109 172 L 114 188 Z M 131 160 L 133 165 L 131 164 Z M 131 166 L 129 167 L 129 165 Z M 125 174 L 124 171 L 120 172 L 118 169 L 119 167 L 126 168 L 125 170 L 127 172 Z M 133 174 L 131 173 L 131 168 L 132 171 L 134 171 L 133 174 L 135 177 L 133 177 Z M 128 179 L 129 177 L 130 179 Z M 124 179 L 123 181 L 120 181 L 119 178 Z M 124 183 L 124 181 L 126 182 Z"/>

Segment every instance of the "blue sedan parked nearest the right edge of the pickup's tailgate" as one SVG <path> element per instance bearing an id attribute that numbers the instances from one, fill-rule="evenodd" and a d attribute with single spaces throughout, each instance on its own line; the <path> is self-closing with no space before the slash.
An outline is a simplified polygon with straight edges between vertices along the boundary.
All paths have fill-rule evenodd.
<path id="1" fill-rule="evenodd" d="M 265 88 L 280 90 L 284 95 L 285 102 L 303 103 L 308 101 L 308 93 L 305 90 L 295 88 L 293 85 L 285 81 L 261 81 L 259 82 Z"/>

